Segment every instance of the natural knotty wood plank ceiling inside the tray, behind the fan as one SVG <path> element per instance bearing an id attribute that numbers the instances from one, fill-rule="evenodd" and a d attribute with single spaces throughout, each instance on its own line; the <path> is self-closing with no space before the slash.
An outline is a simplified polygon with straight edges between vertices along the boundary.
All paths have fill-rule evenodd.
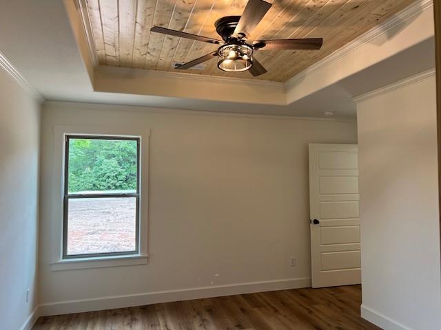
<path id="1" fill-rule="evenodd" d="M 268 50 L 255 56 L 268 70 L 254 79 L 286 81 L 356 39 L 415 0 L 274 0 L 249 40 L 324 39 L 321 50 Z M 220 17 L 240 15 L 247 0 L 87 0 L 100 65 L 182 72 L 174 62 L 191 61 L 216 45 L 150 32 L 154 25 L 212 36 Z M 187 73 L 253 78 L 220 71 L 216 60 Z"/>

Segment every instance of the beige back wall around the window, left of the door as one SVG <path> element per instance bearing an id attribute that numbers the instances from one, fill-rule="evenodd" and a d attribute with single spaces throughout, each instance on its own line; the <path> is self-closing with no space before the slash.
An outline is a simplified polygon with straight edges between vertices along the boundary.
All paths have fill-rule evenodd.
<path id="1" fill-rule="evenodd" d="M 356 142 L 355 122 L 96 104 L 48 103 L 42 122 L 43 313 L 63 300 L 269 281 L 265 289 L 285 279 L 308 285 L 307 144 Z M 61 221 L 50 212 L 52 127 L 65 124 L 151 130 L 147 265 L 51 271 L 50 230 Z"/>

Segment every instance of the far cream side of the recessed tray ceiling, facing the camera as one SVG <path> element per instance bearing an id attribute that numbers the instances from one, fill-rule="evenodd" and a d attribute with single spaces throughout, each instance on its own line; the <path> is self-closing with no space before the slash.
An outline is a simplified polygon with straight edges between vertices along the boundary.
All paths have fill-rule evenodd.
<path id="1" fill-rule="evenodd" d="M 100 65 L 94 70 L 96 92 L 165 96 L 190 100 L 286 105 L 285 86 L 280 83 L 248 83 L 247 80 L 212 79 L 211 76 L 174 74 Z"/>

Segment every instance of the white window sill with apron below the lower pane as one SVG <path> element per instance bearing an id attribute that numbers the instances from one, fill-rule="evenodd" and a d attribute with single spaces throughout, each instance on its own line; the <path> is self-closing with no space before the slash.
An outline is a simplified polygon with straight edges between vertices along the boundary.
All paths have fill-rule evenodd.
<path id="1" fill-rule="evenodd" d="M 86 270 L 90 268 L 121 267 L 132 265 L 146 265 L 147 254 L 130 256 L 101 256 L 97 258 L 63 259 L 50 263 L 52 272 L 62 270 Z"/>

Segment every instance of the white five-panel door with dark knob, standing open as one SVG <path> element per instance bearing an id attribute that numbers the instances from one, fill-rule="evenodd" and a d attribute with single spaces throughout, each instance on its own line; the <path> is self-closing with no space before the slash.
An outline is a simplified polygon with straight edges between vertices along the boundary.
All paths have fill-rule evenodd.
<path id="1" fill-rule="evenodd" d="M 358 146 L 309 144 L 312 287 L 361 283 Z"/>

